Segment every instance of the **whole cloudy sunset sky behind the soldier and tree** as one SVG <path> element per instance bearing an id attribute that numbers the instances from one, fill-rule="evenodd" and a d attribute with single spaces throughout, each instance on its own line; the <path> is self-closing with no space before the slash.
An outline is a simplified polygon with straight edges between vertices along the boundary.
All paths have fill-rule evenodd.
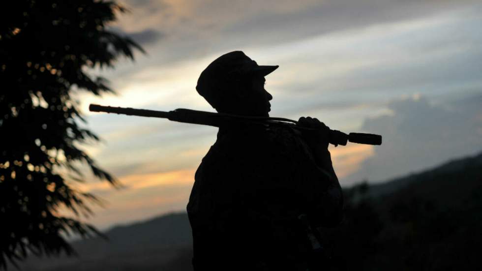
<path id="1" fill-rule="evenodd" d="M 88 112 L 90 103 L 213 111 L 197 94 L 201 71 L 241 50 L 263 65 L 271 116 L 316 117 L 383 145 L 331 148 L 342 186 L 387 181 L 482 151 L 482 3 L 469 0 L 128 0 L 111 26 L 147 51 L 93 70 L 118 95 L 80 92 L 85 147 L 124 185 L 89 181 L 107 201 L 90 222 L 114 224 L 184 211 L 214 127 Z"/>

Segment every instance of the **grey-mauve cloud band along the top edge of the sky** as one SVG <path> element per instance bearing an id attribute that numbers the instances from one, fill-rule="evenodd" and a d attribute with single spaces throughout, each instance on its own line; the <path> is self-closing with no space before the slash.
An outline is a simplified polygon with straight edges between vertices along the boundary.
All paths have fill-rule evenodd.
<path id="1" fill-rule="evenodd" d="M 132 12 L 119 27 L 146 29 L 168 38 L 158 61 L 197 58 L 236 48 L 268 46 L 329 32 L 426 17 L 470 0 L 126 0 Z"/>

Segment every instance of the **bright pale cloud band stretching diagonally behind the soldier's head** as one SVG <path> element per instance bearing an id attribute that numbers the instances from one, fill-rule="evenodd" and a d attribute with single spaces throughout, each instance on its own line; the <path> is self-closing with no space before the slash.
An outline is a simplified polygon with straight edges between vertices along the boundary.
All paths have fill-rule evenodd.
<path id="1" fill-rule="evenodd" d="M 267 48 L 246 53 L 262 64 L 280 64 L 267 78 L 267 90 L 274 96 L 272 116 L 313 116 L 333 129 L 357 132 L 364 118 L 387 112 L 394 106 L 390 101 L 402 94 L 419 90 L 432 98 L 465 90 L 466 86 L 482 87 L 478 61 L 482 51 L 477 46 L 482 40 L 473 34 L 474 22 L 480 22 L 480 18 L 471 12 L 461 17 L 464 12 L 315 36 L 274 46 L 269 53 Z M 84 106 L 90 101 L 164 111 L 182 107 L 212 111 L 194 87 L 199 73 L 215 57 L 132 71 L 116 80 L 122 95 L 84 99 Z M 194 166 L 215 140 L 215 129 L 196 125 L 98 113 L 94 116 L 90 124 L 109 144 L 97 152 L 98 161 L 120 176 Z M 188 143 L 192 138 L 198 145 Z M 179 155 L 188 149 L 200 152 L 189 158 Z M 356 171 L 369 154 L 365 150 L 354 154 L 356 159 L 338 159 L 335 166 L 339 165 L 342 177 L 346 176 Z"/>

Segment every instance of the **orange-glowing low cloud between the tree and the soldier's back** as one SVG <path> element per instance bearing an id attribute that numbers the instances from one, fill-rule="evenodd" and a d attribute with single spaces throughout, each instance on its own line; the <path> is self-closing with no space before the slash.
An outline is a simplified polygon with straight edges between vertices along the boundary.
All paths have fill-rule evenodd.
<path id="1" fill-rule="evenodd" d="M 91 206 L 95 216 L 89 219 L 101 229 L 113 222 L 127 222 L 169 211 L 185 211 L 195 168 L 169 172 L 131 174 L 120 178 L 124 188 L 113 189 L 106 182 L 76 183 L 76 188 L 89 191 L 102 199 L 104 206 Z M 70 212 L 62 210 L 66 215 Z"/>

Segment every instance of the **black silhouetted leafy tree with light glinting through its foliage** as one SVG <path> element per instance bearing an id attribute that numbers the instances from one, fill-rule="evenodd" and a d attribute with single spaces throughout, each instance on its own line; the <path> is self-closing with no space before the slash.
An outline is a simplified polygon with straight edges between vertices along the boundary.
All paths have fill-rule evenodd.
<path id="1" fill-rule="evenodd" d="M 88 203 L 99 202 L 74 188 L 85 181 L 82 165 L 114 186 L 82 145 L 99 138 L 73 97 L 113 92 L 89 68 L 113 67 L 142 48 L 106 29 L 125 9 L 97 0 L 8 1 L 0 11 L 0 268 L 30 253 L 73 254 L 65 236 L 99 234 L 80 221 Z M 79 122 L 80 121 L 80 122 Z M 76 215 L 59 213 L 66 207 Z"/>

